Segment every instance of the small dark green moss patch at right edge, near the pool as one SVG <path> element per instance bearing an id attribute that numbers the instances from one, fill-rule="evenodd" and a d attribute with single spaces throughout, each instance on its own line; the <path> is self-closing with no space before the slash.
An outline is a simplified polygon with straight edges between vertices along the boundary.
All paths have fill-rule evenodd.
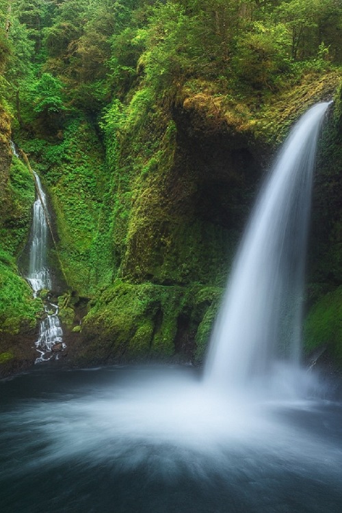
<path id="1" fill-rule="evenodd" d="M 308 314 L 304 330 L 305 348 L 328 347 L 342 364 L 342 287 L 324 295 Z"/>

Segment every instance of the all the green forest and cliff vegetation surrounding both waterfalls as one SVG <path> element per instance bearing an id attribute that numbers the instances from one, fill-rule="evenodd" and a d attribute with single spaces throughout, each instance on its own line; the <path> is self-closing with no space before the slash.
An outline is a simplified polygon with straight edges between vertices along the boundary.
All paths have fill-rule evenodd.
<path id="1" fill-rule="evenodd" d="M 34 185 L 10 166 L 11 127 L 51 198 L 73 358 L 200 360 L 269 156 L 336 94 L 307 329 L 309 345 L 327 342 L 319 308 L 341 297 L 341 66 L 339 0 L 0 0 L 3 340 L 41 308 L 16 267 Z"/>

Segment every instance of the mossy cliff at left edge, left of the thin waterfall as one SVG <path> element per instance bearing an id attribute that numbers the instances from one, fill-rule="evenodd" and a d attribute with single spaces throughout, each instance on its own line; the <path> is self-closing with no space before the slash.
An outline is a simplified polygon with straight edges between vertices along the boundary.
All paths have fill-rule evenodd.
<path id="1" fill-rule="evenodd" d="M 0 113 L 0 376 L 34 361 L 40 300 L 18 272 L 18 254 L 31 225 L 34 181 L 10 150 L 10 122 Z"/>

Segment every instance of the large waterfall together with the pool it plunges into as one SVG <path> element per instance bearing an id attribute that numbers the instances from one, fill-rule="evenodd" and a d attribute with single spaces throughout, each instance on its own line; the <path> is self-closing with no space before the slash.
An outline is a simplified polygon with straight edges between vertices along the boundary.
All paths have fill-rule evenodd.
<path id="1" fill-rule="evenodd" d="M 327 108 L 298 122 L 263 187 L 205 379 L 192 367 L 38 367 L 0 382 L 1 512 L 341 512 L 341 386 L 299 354 Z"/>

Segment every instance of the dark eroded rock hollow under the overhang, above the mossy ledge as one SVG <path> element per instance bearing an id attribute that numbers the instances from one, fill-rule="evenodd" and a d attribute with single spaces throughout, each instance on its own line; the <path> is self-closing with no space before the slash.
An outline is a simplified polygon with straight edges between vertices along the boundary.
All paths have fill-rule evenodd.
<path id="1" fill-rule="evenodd" d="M 169 155 L 146 176 L 131 210 L 121 272 L 160 285 L 214 283 L 226 274 L 263 163 L 252 134 L 224 123 L 214 129 L 183 108 L 172 115 Z"/>

